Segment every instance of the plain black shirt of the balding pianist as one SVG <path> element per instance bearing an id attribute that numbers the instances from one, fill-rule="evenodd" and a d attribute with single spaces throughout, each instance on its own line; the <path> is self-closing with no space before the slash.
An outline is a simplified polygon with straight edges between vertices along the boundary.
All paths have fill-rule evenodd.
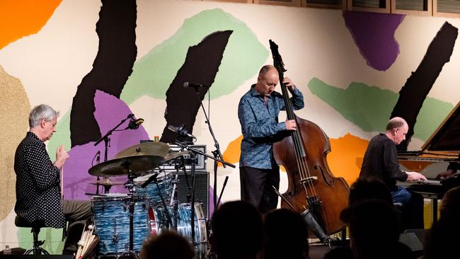
<path id="1" fill-rule="evenodd" d="M 381 180 L 390 191 L 396 190 L 396 180 L 407 180 L 407 173 L 399 168 L 396 145 L 386 134 L 380 133 L 369 142 L 362 161 L 360 178 Z"/>

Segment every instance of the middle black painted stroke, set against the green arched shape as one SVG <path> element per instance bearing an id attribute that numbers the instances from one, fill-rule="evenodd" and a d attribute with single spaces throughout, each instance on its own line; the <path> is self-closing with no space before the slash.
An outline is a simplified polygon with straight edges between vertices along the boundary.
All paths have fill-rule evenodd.
<path id="1" fill-rule="evenodd" d="M 176 142 L 177 136 L 168 129 L 168 125 L 185 125 L 188 132 L 192 133 L 195 117 L 200 109 L 200 100 L 203 100 L 214 82 L 231 33 L 231 30 L 212 33 L 198 45 L 188 48 L 183 66 L 166 91 L 166 126 L 161 135 L 161 142 Z M 193 88 L 183 87 L 186 81 L 207 87 L 196 92 Z"/>

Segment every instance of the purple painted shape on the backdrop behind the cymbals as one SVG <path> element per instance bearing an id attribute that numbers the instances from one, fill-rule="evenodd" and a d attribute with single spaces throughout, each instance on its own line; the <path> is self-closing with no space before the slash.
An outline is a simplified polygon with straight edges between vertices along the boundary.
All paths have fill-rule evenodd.
<path id="1" fill-rule="evenodd" d="M 131 113 L 130 108 L 122 100 L 111 96 L 103 91 L 96 91 L 94 98 L 96 111 L 94 117 L 98 122 L 100 134 L 103 136 L 110 129 L 113 129 L 123 119 Z M 125 129 L 130 120 L 126 120 L 118 129 Z M 84 134 L 84 132 L 81 132 Z M 149 139 L 142 125 L 139 129 L 127 129 L 120 132 L 113 132 L 110 135 L 110 147 L 108 148 L 108 160 L 112 159 L 115 154 L 127 147 L 139 144 L 140 140 Z M 95 142 L 89 142 L 81 146 L 74 146 L 69 151 L 69 160 L 64 169 L 64 199 L 66 200 L 89 200 L 91 196 L 85 195 L 86 192 L 95 193 L 96 185 L 91 185 L 96 180 L 96 176 L 90 175 L 88 169 L 93 161 L 96 152 L 100 151 L 100 161 L 104 157 L 104 142 L 94 146 Z M 127 180 L 126 175 L 120 175 L 110 178 L 113 182 L 124 183 Z M 117 185 L 110 188 L 111 193 L 127 192 L 123 185 Z"/>

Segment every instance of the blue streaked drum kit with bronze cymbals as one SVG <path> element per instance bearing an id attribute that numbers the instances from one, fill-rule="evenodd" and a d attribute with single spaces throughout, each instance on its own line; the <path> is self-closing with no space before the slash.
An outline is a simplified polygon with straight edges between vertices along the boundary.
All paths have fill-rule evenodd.
<path id="1" fill-rule="evenodd" d="M 207 254 L 207 219 L 200 203 L 179 203 L 177 174 L 159 170 L 168 161 L 189 151 L 170 152 L 163 142 L 145 142 L 120 151 L 112 160 L 98 163 L 88 173 L 103 177 L 91 184 L 106 193 L 91 197 L 94 228 L 98 236 L 96 255 L 137 258 L 150 235 L 173 229 L 195 246 L 197 258 Z M 177 171 L 180 166 L 176 166 Z M 127 175 L 128 193 L 108 193 L 109 177 Z M 192 215 L 193 214 L 193 215 Z M 77 258 L 78 259 L 78 258 Z"/>

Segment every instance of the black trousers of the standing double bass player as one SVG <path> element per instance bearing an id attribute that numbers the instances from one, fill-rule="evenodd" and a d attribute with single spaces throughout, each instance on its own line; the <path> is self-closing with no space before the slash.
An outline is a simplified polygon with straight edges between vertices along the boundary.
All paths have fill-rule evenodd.
<path id="1" fill-rule="evenodd" d="M 278 195 L 273 186 L 280 188 L 280 168 L 259 169 L 240 167 L 241 200 L 257 207 L 260 213 L 270 212 L 278 205 Z"/>

